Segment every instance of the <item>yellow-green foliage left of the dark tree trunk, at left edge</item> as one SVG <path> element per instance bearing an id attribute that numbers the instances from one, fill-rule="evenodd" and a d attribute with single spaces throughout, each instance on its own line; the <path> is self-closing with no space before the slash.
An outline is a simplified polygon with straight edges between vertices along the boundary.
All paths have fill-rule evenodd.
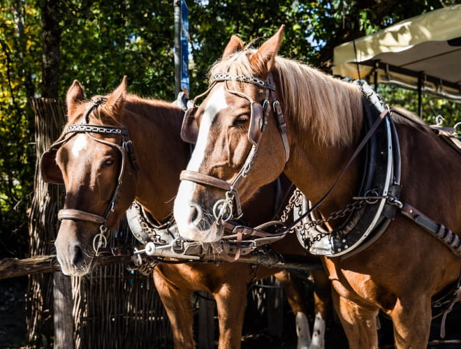
<path id="1" fill-rule="evenodd" d="M 38 12 L 28 1 L 0 2 L 0 256 L 27 252 L 34 181 L 32 74 L 40 70 Z"/>

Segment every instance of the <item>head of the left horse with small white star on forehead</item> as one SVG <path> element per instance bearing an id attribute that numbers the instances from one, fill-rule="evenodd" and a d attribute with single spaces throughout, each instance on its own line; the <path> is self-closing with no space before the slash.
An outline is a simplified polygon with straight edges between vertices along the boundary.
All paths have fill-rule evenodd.
<path id="1" fill-rule="evenodd" d="M 91 101 L 85 101 L 75 80 L 66 98 L 68 123 L 41 158 L 43 179 L 66 188 L 54 244 L 67 275 L 84 275 L 92 269 L 94 255 L 105 247 L 110 230 L 135 195 L 136 160 L 122 125 L 125 95 L 126 77 L 110 96 Z"/>

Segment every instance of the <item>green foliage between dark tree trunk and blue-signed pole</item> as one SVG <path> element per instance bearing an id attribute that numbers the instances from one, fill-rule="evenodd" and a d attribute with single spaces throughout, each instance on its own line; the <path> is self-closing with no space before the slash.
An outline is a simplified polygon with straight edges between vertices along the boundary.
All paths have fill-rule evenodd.
<path id="1" fill-rule="evenodd" d="M 174 99 L 171 1 L 72 1 L 61 35 L 61 94 L 74 79 L 87 96 L 129 78 L 131 91 Z"/>

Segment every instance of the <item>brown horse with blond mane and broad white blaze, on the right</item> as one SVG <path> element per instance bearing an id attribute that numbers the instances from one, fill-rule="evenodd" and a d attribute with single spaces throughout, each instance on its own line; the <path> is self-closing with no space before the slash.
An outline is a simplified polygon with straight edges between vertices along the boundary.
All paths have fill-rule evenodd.
<path id="1" fill-rule="evenodd" d="M 219 239 L 222 221 L 235 214 L 235 197 L 247 202 L 281 172 L 312 202 L 323 202 L 319 209 L 332 231 L 315 237 L 328 244 L 334 240 L 349 248 L 344 242 L 351 239 L 347 233 L 340 235 L 345 218 L 334 214 L 330 219 L 330 214 L 344 213 L 345 207 L 355 212 L 357 207 L 348 206 L 354 200 L 367 209 L 376 207 L 374 202 L 392 205 L 397 208 L 395 218 L 381 237 L 355 254 L 342 255 L 333 246 L 336 249 L 325 253 L 330 258 L 323 258 L 323 263 L 350 348 L 377 347 L 380 309 L 393 320 L 397 348 L 426 348 L 431 297 L 460 278 L 459 239 L 444 229 L 461 232 L 459 154 L 422 122 L 392 113 L 400 141 L 401 174 L 388 172 L 398 167 L 390 161 L 374 173 L 378 177 L 390 173 L 386 178 L 395 177 L 396 186 L 400 177 L 400 200 L 390 189 L 353 199 L 360 193 L 366 163 L 364 151 L 353 153 L 374 135 L 373 128 L 391 125 L 390 112 L 383 110 L 364 135 L 365 100 L 360 86 L 278 57 L 283 32 L 282 26 L 258 50 L 244 47 L 233 36 L 210 70 L 206 98 L 187 115 L 183 133 L 196 139 L 196 149 L 175 202 L 180 234 L 204 242 Z M 393 149 L 397 145 L 393 142 Z M 379 151 L 379 156 L 383 154 L 388 149 Z M 408 216 L 427 223 L 432 233 Z M 440 232 L 453 242 L 451 246 L 434 239 Z M 315 243 L 307 242 L 307 247 Z M 459 294 L 458 281 L 453 304 Z"/>

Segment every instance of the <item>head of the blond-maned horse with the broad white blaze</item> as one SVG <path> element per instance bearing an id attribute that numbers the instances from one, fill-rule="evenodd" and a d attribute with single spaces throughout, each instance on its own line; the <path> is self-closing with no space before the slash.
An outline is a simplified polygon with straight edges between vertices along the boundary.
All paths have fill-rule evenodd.
<path id="1" fill-rule="evenodd" d="M 203 103 L 194 101 L 184 117 L 183 138 L 196 147 L 181 175 L 174 214 L 186 239 L 220 239 L 221 223 L 238 218 L 240 205 L 284 170 L 288 136 L 272 71 L 283 33 L 282 26 L 258 50 L 233 36 L 211 69 Z"/>

